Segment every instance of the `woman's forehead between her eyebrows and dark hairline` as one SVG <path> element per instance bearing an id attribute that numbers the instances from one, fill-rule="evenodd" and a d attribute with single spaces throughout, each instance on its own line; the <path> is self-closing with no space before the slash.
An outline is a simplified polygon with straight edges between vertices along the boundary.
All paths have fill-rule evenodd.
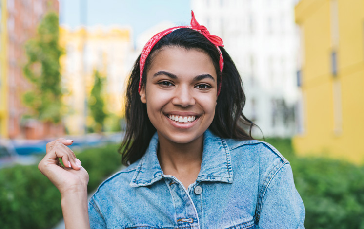
<path id="1" fill-rule="evenodd" d="M 197 49 L 163 48 L 153 55 L 147 75 L 161 70 L 171 72 L 177 76 L 211 74 L 216 79 L 216 69 L 211 57 Z"/>

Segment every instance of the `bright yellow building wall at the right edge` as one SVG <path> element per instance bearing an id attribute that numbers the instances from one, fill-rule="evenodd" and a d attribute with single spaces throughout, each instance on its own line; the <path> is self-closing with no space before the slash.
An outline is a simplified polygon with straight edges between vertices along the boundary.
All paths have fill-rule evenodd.
<path id="1" fill-rule="evenodd" d="M 301 0 L 299 155 L 364 163 L 364 1 Z"/>

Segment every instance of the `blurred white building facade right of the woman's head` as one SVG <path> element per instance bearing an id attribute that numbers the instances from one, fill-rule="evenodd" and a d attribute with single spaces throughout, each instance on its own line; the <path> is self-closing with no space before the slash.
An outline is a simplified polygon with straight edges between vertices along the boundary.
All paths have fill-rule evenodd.
<path id="1" fill-rule="evenodd" d="M 246 94 L 244 114 L 264 137 L 295 133 L 295 0 L 191 0 L 197 21 L 224 42 Z M 255 137 L 262 137 L 259 130 Z"/>

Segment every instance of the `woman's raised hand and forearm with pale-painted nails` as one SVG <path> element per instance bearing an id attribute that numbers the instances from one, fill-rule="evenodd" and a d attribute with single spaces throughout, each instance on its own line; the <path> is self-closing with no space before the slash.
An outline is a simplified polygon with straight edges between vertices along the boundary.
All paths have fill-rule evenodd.
<path id="1" fill-rule="evenodd" d="M 87 209 L 88 173 L 73 151 L 67 147 L 72 140 L 57 139 L 48 142 L 47 153 L 38 169 L 61 192 L 61 207 L 66 229 L 89 229 Z M 60 160 L 64 166 L 60 163 Z"/>

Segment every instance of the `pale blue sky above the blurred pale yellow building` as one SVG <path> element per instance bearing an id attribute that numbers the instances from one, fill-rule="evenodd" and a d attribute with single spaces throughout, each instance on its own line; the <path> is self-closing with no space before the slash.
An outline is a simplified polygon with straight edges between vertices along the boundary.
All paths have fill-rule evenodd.
<path id="1" fill-rule="evenodd" d="M 134 39 L 159 22 L 170 21 L 176 25 L 189 25 L 191 20 L 190 0 L 59 1 L 61 25 L 71 28 L 81 24 L 130 26 Z"/>

